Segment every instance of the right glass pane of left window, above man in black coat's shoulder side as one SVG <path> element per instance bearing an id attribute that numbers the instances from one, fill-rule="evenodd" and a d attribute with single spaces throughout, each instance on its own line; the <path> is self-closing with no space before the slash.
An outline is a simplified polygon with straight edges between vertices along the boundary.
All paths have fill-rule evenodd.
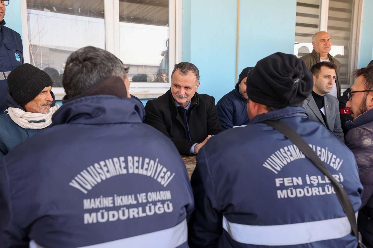
<path id="1" fill-rule="evenodd" d="M 168 0 L 119 1 L 120 59 L 132 82 L 169 82 Z"/>

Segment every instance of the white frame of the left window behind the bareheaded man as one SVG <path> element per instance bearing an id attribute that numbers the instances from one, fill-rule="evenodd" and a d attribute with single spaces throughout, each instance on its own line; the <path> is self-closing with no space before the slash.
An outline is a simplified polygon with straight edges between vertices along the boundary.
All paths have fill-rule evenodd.
<path id="1" fill-rule="evenodd" d="M 105 22 L 105 50 L 120 57 L 119 41 L 119 0 L 104 1 L 104 22 Z M 29 36 L 27 20 L 27 2 L 21 3 L 21 23 L 23 58 L 25 63 L 30 63 L 29 56 Z M 27 54 L 28 56 L 25 56 Z M 169 0 L 169 72 L 173 70 L 173 65 L 182 61 L 182 0 Z M 169 75 L 171 78 L 171 75 Z M 169 83 L 137 83 L 131 82 L 129 93 L 140 99 L 151 99 L 162 96 L 169 90 Z M 65 96 L 63 87 L 53 87 L 56 100 L 62 100 Z"/>

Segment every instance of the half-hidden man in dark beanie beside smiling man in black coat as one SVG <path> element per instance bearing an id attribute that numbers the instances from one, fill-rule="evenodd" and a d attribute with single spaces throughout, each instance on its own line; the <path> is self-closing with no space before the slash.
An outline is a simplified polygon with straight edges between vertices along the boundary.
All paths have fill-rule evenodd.
<path id="1" fill-rule="evenodd" d="M 239 74 L 236 87 L 220 98 L 219 102 L 216 104 L 217 117 L 219 118 L 220 123 L 222 123 L 223 130 L 245 126 L 250 121 L 246 110 L 246 81 L 247 74 L 253 68 L 254 67 L 246 67 L 242 70 Z"/>

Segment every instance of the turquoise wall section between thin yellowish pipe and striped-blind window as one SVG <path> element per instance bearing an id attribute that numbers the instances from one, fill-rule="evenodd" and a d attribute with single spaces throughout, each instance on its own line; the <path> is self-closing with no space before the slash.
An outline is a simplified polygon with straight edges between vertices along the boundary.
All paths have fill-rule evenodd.
<path id="1" fill-rule="evenodd" d="M 275 52 L 294 53 L 297 0 L 240 1 L 238 74 Z"/>

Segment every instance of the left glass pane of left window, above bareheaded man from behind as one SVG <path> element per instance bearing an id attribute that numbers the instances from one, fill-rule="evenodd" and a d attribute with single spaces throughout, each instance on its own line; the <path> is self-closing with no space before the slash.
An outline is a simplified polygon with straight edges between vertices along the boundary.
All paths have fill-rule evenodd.
<path id="1" fill-rule="evenodd" d="M 69 55 L 84 46 L 105 49 L 103 0 L 27 0 L 30 63 L 62 87 Z"/>

